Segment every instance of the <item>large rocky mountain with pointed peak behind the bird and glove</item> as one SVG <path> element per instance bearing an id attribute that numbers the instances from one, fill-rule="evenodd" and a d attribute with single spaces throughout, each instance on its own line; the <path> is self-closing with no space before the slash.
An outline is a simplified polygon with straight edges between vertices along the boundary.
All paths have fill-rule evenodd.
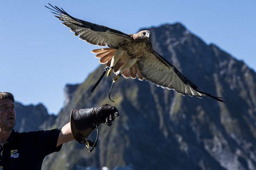
<path id="1" fill-rule="evenodd" d="M 146 81 L 112 78 L 90 89 L 103 66 L 73 92 L 55 127 L 69 121 L 73 108 L 114 104 L 120 112 L 112 127 L 100 125 L 92 153 L 75 141 L 44 161 L 44 169 L 132 165 L 136 170 L 256 169 L 256 73 L 216 45 L 205 44 L 180 23 L 149 28 L 154 50 L 200 89 L 223 97 L 183 97 Z M 89 137 L 95 140 L 96 132 Z M 47 168 L 46 168 L 47 167 Z"/>

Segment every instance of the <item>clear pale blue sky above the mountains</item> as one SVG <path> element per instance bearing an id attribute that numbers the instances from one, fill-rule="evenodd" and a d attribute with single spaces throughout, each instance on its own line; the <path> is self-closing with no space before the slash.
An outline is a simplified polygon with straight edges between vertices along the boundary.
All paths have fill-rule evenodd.
<path id="1" fill-rule="evenodd" d="M 57 114 L 67 83 L 81 83 L 99 66 L 97 47 L 74 37 L 47 3 L 76 18 L 124 33 L 181 22 L 256 70 L 255 0 L 10 0 L 0 4 L 0 92 Z M 165 56 L 168 57 L 168 56 Z M 207 57 L 207 56 L 205 56 Z"/>

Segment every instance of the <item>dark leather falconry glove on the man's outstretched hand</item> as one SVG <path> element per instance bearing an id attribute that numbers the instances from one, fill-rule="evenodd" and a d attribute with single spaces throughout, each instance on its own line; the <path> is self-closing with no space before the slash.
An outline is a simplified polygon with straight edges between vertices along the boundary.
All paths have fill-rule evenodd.
<path id="1" fill-rule="evenodd" d="M 109 104 L 93 108 L 73 109 L 70 115 L 72 135 L 76 141 L 81 143 L 88 138 L 96 125 L 105 123 L 111 126 L 112 121 L 118 116 L 117 108 Z"/>

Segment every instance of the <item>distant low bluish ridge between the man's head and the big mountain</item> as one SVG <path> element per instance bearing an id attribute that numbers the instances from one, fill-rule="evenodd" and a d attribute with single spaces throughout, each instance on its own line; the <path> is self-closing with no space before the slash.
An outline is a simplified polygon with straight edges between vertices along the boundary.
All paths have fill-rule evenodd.
<path id="1" fill-rule="evenodd" d="M 56 116 L 49 115 L 42 104 L 24 106 L 15 102 L 16 125 L 15 131 L 29 132 L 36 130 L 45 130 L 51 127 L 55 122 Z"/>

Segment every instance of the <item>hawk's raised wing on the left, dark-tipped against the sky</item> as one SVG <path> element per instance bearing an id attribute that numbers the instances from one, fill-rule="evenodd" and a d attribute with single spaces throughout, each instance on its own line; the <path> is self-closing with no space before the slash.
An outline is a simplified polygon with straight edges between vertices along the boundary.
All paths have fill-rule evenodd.
<path id="1" fill-rule="evenodd" d="M 51 5 L 51 7 L 53 6 Z M 54 16 L 63 21 L 62 24 L 70 28 L 71 32 L 75 32 L 75 36 L 80 35 L 79 38 L 81 40 L 92 45 L 98 45 L 100 47 L 104 47 L 106 45 L 109 47 L 117 47 L 125 39 L 128 40 L 131 37 L 131 35 L 125 34 L 118 30 L 74 18 L 66 13 L 62 8 L 60 9 L 55 6 L 53 9 L 49 9 L 54 11 L 54 14 L 59 15 Z"/>

